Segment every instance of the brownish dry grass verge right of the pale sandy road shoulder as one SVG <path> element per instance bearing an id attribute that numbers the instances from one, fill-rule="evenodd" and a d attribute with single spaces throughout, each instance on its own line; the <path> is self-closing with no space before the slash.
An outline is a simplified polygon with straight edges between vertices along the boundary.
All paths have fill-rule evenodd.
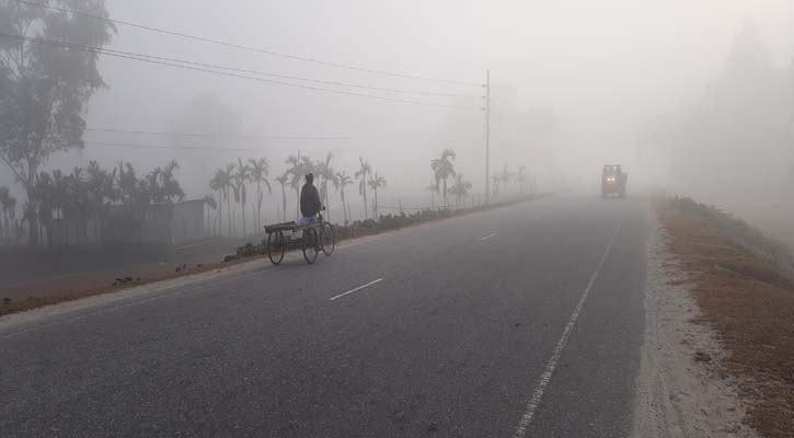
<path id="1" fill-rule="evenodd" d="M 739 382 L 748 423 L 767 437 L 794 436 L 794 277 L 785 245 L 714 207 L 654 197 L 669 251 L 692 281 Z M 693 389 L 694 390 L 694 389 Z"/>

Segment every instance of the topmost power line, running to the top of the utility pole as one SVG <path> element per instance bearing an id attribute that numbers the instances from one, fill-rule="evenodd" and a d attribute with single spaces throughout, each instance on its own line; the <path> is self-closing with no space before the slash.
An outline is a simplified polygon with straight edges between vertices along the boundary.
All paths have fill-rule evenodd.
<path id="1" fill-rule="evenodd" d="M 72 14 L 81 15 L 81 16 L 88 16 L 91 19 L 101 20 L 101 21 L 105 21 L 105 22 L 110 22 L 110 23 L 114 23 L 114 24 L 120 24 L 120 25 L 125 25 L 125 26 L 129 26 L 129 27 L 137 27 L 137 28 L 156 32 L 156 33 L 160 33 L 160 34 L 179 36 L 181 38 L 195 39 L 195 41 L 199 41 L 199 42 L 204 42 L 204 43 L 216 44 L 216 45 L 237 48 L 237 49 L 241 49 L 241 50 L 254 51 L 254 53 L 265 54 L 265 55 L 271 55 L 271 56 L 278 56 L 278 57 L 283 57 L 283 58 L 295 59 L 295 60 L 300 60 L 300 61 L 306 61 L 306 62 L 313 62 L 313 64 L 318 64 L 318 65 L 326 66 L 326 67 L 366 71 L 369 73 L 383 74 L 383 76 L 390 76 L 390 77 L 395 77 L 395 78 L 415 79 L 415 80 L 422 80 L 422 81 L 427 81 L 427 82 L 450 83 L 450 84 L 467 85 L 467 87 L 482 87 L 481 83 L 456 81 L 456 80 L 448 80 L 448 79 L 436 79 L 436 78 L 427 78 L 427 77 L 421 77 L 421 76 L 415 76 L 415 74 L 399 73 L 399 72 L 393 72 L 393 71 L 376 70 L 376 69 L 370 69 L 370 68 L 366 68 L 366 67 L 350 66 L 350 65 L 345 65 L 345 64 L 307 58 L 307 57 L 298 56 L 298 55 L 290 55 L 290 54 L 274 51 L 274 50 L 266 50 L 266 49 L 261 49 L 261 48 L 255 48 L 255 47 L 250 47 L 250 46 L 243 46 L 243 45 L 239 45 L 239 44 L 234 44 L 234 43 L 228 43 L 228 42 L 223 42 L 220 39 L 206 38 L 206 37 L 202 37 L 202 36 L 184 34 L 181 32 L 174 32 L 174 31 L 168 31 L 168 30 L 163 30 L 163 28 L 159 28 L 159 27 L 147 26 L 147 25 L 142 25 L 142 24 L 128 22 L 128 21 L 114 20 L 114 19 L 110 19 L 106 16 L 100 16 L 96 14 L 76 11 L 76 10 L 71 10 L 71 9 L 65 9 L 65 8 L 53 7 L 49 4 L 36 3 L 33 1 L 25 1 L 25 0 L 13 0 L 13 1 L 15 1 L 18 3 L 22 3 L 22 4 L 49 9 L 49 10 L 54 10 L 54 11 L 72 13 Z"/>

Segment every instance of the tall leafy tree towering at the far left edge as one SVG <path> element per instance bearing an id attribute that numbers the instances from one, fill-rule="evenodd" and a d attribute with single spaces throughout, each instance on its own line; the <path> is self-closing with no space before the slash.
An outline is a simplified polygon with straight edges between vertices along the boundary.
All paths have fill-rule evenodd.
<path id="1" fill-rule="evenodd" d="M 107 16 L 104 1 L 82 2 L 82 10 Z M 37 4 L 0 2 L 0 26 L 23 37 L 69 41 L 102 47 L 115 27 L 108 21 L 85 20 Z M 31 35 L 33 34 L 33 35 Z M 39 241 L 35 184 L 41 165 L 57 151 L 82 148 L 82 113 L 93 92 L 105 87 L 95 50 L 68 50 L 11 41 L 0 44 L 0 161 L 27 194 L 25 220 L 30 243 Z"/>

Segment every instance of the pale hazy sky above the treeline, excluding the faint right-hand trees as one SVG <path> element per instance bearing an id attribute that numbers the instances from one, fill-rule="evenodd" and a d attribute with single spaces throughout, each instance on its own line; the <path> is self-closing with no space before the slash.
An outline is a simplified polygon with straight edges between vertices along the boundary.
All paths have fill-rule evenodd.
<path id="1" fill-rule="evenodd" d="M 642 169 L 637 174 L 658 171 L 653 164 L 663 158 L 637 153 L 638 132 L 648 120 L 679 111 L 703 93 L 722 71 L 734 37 L 749 18 L 758 23 L 776 62 L 787 66 L 794 54 L 790 0 L 107 0 L 107 9 L 118 20 L 378 70 L 476 83 L 490 69 L 495 94 L 492 169 L 505 162 L 514 163 L 514 169 L 525 163 L 541 175 L 586 171 L 586 178 L 597 178 L 594 175 L 606 161 Z M 483 91 L 323 67 L 126 26 L 118 27 L 110 48 L 377 87 L 473 95 Z M 100 68 L 110 89 L 91 101 L 91 127 L 173 130 L 182 126 L 186 105 L 199 95 L 214 94 L 233 108 L 233 134 L 375 137 L 219 141 L 225 147 L 261 147 L 256 155 L 267 157 L 278 172 L 284 158 L 299 149 L 314 158 L 329 148 L 346 149 L 337 152 L 337 168 L 352 173 L 361 154 L 389 180 L 388 191 L 418 193 L 430 182 L 429 159 L 453 148 L 459 169 L 475 191 L 482 191 L 479 111 L 382 103 L 123 59 L 103 59 Z M 464 106 L 482 103 L 373 93 Z M 549 114 L 557 120 L 553 130 L 538 128 L 533 119 Z M 95 132 L 87 138 L 146 145 L 174 141 Z M 198 197 L 207 192 L 208 173 L 238 154 L 177 155 L 89 146 L 81 158 L 54 158 L 50 165 L 71 166 L 96 158 L 106 164 L 127 159 L 149 168 L 179 157 L 188 195 Z M 3 173 L 8 181 L 8 172 Z"/>

